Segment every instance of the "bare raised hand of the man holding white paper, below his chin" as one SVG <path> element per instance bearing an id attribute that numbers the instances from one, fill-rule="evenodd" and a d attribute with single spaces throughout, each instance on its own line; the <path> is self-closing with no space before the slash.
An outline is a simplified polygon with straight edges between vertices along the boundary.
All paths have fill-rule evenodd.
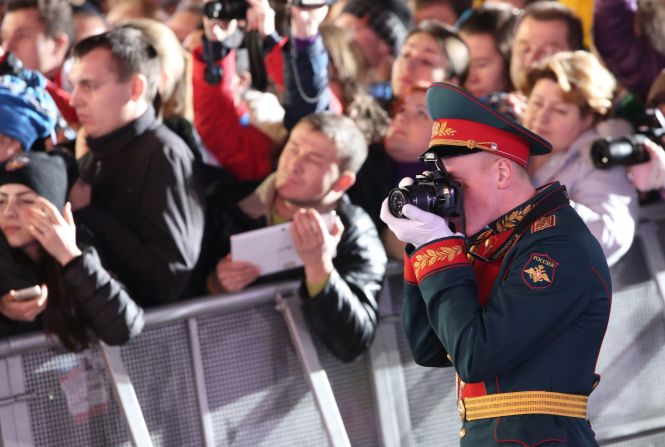
<path id="1" fill-rule="evenodd" d="M 330 274 L 332 259 L 343 232 L 344 225 L 339 216 L 335 216 L 330 231 L 315 209 L 300 209 L 293 216 L 291 237 L 296 253 L 305 265 L 305 276 L 309 282 L 323 281 Z"/>

